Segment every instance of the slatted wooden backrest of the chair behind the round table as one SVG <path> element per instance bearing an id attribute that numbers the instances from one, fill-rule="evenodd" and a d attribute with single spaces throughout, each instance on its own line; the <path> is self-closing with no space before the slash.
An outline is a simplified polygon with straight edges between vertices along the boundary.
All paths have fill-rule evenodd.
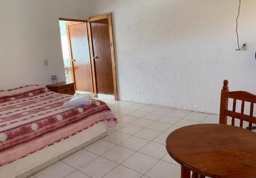
<path id="1" fill-rule="evenodd" d="M 240 127 L 243 128 L 243 122 L 249 122 L 248 128 L 252 129 L 252 123 L 256 123 L 256 117 L 253 116 L 253 105 L 256 103 L 256 95 L 246 91 L 229 91 L 228 81 L 223 81 L 221 90 L 220 123 L 227 124 L 227 116 L 232 118 L 231 125 L 234 125 L 234 119 L 240 119 Z M 228 110 L 228 100 L 233 99 L 232 111 Z M 237 100 L 241 100 L 241 112 L 236 112 Z M 244 114 L 245 101 L 250 103 L 250 114 Z"/>

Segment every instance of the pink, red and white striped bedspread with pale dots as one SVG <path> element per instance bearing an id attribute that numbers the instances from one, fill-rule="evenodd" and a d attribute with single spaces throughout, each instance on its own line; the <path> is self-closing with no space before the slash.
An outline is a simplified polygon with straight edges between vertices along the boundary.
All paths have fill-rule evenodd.
<path id="1" fill-rule="evenodd" d="M 71 95 L 29 85 L 0 91 L 0 166 L 106 121 L 117 124 L 100 100 L 92 105 L 63 107 Z"/>

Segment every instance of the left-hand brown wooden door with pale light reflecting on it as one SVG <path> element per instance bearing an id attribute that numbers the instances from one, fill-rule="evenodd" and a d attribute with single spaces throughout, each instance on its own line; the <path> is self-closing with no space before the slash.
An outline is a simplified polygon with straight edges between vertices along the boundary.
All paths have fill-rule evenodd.
<path id="1" fill-rule="evenodd" d="M 87 22 L 67 22 L 66 29 L 76 90 L 93 92 Z"/>

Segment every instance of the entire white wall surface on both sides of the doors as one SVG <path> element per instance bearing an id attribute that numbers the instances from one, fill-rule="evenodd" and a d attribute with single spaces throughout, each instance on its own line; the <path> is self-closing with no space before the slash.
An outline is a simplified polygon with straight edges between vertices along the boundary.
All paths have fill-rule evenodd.
<path id="1" fill-rule="evenodd" d="M 218 113 L 222 80 L 256 93 L 256 2 L 1 0 L 0 90 L 65 81 L 58 18 L 113 13 L 121 100 Z M 49 60 L 45 67 L 43 61 Z"/>

